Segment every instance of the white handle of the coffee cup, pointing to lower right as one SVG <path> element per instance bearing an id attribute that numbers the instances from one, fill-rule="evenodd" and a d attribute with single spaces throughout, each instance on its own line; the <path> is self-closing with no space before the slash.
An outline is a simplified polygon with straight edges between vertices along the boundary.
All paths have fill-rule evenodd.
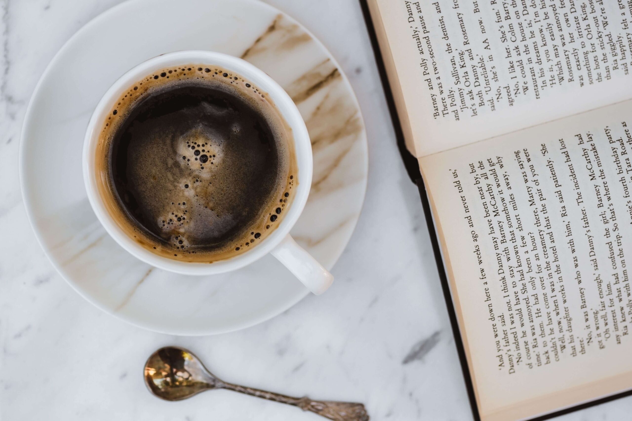
<path id="1" fill-rule="evenodd" d="M 289 234 L 271 253 L 313 294 L 322 294 L 334 282 L 334 276 L 303 247 L 296 244 L 296 241 Z"/>

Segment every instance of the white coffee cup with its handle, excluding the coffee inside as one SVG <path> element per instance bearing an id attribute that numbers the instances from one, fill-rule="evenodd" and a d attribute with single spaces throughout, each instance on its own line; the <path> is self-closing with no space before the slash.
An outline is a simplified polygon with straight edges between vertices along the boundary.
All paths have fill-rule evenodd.
<path id="1" fill-rule="evenodd" d="M 284 210 L 285 216 L 276 230 L 267 235 L 265 239 L 254 247 L 250 247 L 248 251 L 213 263 L 183 262 L 169 259 L 152 253 L 131 239 L 107 210 L 104 198 L 100 196 L 97 188 L 95 172 L 96 147 L 101 125 L 106 120 L 109 110 L 114 105 L 114 101 L 118 100 L 119 96 L 128 90 L 133 83 L 141 80 L 147 74 L 169 66 L 183 66 L 193 63 L 204 63 L 209 66 L 214 65 L 230 69 L 252 81 L 260 90 L 267 92 L 267 95 L 272 98 L 277 110 L 279 110 L 292 130 L 298 167 L 298 184 L 295 184 L 294 200 L 289 208 Z M 331 285 L 334 280 L 333 276 L 307 251 L 298 246 L 289 235 L 289 231 L 298 220 L 307 202 L 307 196 L 312 185 L 312 170 L 312 143 L 310 142 L 303 117 L 301 117 L 288 93 L 264 71 L 256 68 L 249 62 L 211 51 L 191 50 L 162 54 L 162 56 L 157 56 L 138 64 L 138 66 L 123 74 L 99 101 L 88 123 L 83 143 L 83 179 L 90 205 L 92 205 L 97 218 L 99 218 L 99 221 L 112 238 L 133 256 L 156 268 L 167 271 L 185 275 L 214 275 L 243 268 L 262 258 L 265 254 L 271 253 L 311 292 L 322 294 Z"/>

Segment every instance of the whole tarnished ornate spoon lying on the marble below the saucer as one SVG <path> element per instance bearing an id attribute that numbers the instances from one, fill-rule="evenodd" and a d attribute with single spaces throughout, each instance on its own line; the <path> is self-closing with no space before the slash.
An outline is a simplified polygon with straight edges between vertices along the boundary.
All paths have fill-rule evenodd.
<path id="1" fill-rule="evenodd" d="M 218 379 L 188 350 L 160 348 L 145 363 L 145 383 L 161 399 L 179 401 L 209 389 L 228 389 L 270 401 L 298 406 L 334 421 L 368 421 L 362 403 L 313 401 L 307 396 L 293 398 L 284 394 L 246 388 Z"/>

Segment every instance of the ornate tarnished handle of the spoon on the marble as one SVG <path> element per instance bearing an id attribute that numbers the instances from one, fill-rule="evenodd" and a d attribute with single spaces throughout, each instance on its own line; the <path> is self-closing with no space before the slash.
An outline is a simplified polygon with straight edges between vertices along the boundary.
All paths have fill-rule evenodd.
<path id="1" fill-rule="evenodd" d="M 222 382 L 222 386 L 225 389 L 250 394 L 250 396 L 257 396 L 257 398 L 264 398 L 270 401 L 298 406 L 303 411 L 311 411 L 333 421 L 368 421 L 368 413 L 362 403 L 313 401 L 307 396 L 303 398 L 294 398 L 293 396 L 287 396 L 285 394 L 246 388 L 245 386 L 239 386 L 238 384 L 226 382 Z"/>

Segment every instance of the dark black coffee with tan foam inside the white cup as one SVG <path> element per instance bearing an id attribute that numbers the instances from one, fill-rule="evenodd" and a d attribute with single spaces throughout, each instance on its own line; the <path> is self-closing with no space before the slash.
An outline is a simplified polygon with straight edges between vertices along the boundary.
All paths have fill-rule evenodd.
<path id="1" fill-rule="evenodd" d="M 107 211 L 131 239 L 210 263 L 254 247 L 291 205 L 291 129 L 267 93 L 227 69 L 186 64 L 137 81 L 96 148 Z"/>

